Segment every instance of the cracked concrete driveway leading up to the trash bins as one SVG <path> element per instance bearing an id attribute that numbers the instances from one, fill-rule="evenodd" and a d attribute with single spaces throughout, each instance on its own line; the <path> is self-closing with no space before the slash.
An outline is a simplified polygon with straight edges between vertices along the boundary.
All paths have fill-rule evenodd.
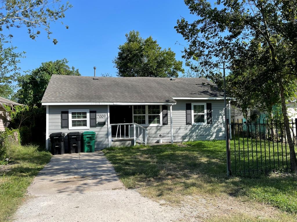
<path id="1" fill-rule="evenodd" d="M 16 222 L 176 221 L 178 209 L 124 189 L 101 151 L 52 157 L 28 187 Z"/>

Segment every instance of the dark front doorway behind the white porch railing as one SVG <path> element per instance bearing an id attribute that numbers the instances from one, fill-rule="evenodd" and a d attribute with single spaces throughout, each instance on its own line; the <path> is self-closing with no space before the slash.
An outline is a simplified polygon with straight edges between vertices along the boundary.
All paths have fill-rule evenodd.
<path id="1" fill-rule="evenodd" d="M 132 106 L 109 106 L 110 124 L 115 123 L 132 123 Z M 128 125 L 121 126 L 121 136 L 125 134 L 129 136 Z M 111 135 L 116 136 L 116 131 L 118 129 L 118 137 L 120 135 L 120 127 L 111 126 Z"/>

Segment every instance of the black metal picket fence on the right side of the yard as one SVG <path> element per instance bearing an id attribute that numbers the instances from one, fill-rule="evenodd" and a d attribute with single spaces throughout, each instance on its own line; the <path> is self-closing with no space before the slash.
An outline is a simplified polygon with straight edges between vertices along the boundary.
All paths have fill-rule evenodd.
<path id="1" fill-rule="evenodd" d="M 297 119 L 290 120 L 290 134 L 295 151 Z M 268 119 L 258 122 L 230 124 L 230 160 L 231 172 L 243 176 L 290 171 L 290 149 L 283 121 Z"/>

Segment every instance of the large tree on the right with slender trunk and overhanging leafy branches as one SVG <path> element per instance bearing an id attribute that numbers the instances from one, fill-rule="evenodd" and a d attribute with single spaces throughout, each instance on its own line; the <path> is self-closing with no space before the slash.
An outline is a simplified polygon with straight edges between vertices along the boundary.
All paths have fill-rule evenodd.
<path id="1" fill-rule="evenodd" d="M 245 73 L 245 93 L 258 92 L 258 104 L 269 110 L 281 104 L 291 170 L 297 173 L 286 101 L 297 90 L 297 1 L 296 0 L 185 0 L 198 19 L 177 21 L 176 30 L 188 42 L 183 58 L 193 70 L 203 67 L 208 76 L 222 63 L 240 79 Z M 249 74 L 249 70 L 256 70 Z M 236 89 L 237 86 L 235 86 Z M 231 88 L 232 89 L 232 88 Z M 230 96 L 237 96 L 230 91 Z M 253 97 L 254 99 L 256 97 Z"/>

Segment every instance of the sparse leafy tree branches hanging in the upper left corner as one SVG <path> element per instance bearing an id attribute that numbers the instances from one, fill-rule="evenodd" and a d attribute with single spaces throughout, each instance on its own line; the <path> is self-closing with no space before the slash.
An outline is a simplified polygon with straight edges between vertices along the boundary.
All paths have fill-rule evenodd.
<path id="1" fill-rule="evenodd" d="M 61 0 L 3 0 L 0 6 L 0 85 L 11 84 L 20 76 L 18 63 L 24 52 L 15 52 L 12 38 L 15 30 L 26 28 L 31 39 L 36 39 L 42 31 L 50 38 L 50 25 L 63 19 L 72 5 Z M 62 23 L 63 24 L 63 23 Z M 66 25 L 66 28 L 68 26 Z M 53 44 L 57 44 L 53 39 Z"/>

